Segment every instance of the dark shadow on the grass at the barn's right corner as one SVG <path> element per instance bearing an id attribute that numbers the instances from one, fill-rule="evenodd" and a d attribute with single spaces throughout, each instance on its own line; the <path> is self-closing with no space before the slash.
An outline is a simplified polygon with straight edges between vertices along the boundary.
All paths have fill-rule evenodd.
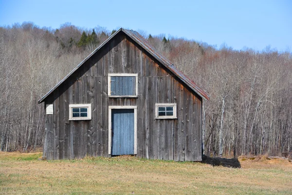
<path id="1" fill-rule="evenodd" d="M 220 158 L 220 157 L 208 157 L 202 156 L 202 163 L 210 164 L 212 166 L 223 166 L 230 168 L 240 168 L 240 162 L 237 158 Z"/>

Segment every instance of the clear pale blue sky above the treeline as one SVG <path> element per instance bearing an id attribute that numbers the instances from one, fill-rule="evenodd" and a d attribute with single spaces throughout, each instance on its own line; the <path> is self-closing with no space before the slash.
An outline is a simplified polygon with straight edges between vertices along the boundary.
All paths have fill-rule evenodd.
<path id="1" fill-rule="evenodd" d="M 119 27 L 203 41 L 219 48 L 292 52 L 292 0 L 0 0 L 0 26 Z"/>

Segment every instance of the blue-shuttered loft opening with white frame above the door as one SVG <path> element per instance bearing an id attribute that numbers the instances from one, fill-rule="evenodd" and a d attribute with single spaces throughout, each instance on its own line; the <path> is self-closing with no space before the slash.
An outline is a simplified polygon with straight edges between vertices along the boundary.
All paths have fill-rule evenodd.
<path id="1" fill-rule="evenodd" d="M 110 98 L 137 98 L 138 74 L 109 74 L 108 95 Z"/>

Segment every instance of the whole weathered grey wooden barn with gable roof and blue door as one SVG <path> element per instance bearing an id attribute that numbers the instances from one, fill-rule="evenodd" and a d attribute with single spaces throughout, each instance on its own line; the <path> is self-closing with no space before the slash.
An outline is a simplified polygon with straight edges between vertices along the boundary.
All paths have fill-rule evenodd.
<path id="1" fill-rule="evenodd" d="M 38 101 L 46 109 L 43 156 L 201 161 L 208 99 L 146 39 L 121 28 Z"/>

